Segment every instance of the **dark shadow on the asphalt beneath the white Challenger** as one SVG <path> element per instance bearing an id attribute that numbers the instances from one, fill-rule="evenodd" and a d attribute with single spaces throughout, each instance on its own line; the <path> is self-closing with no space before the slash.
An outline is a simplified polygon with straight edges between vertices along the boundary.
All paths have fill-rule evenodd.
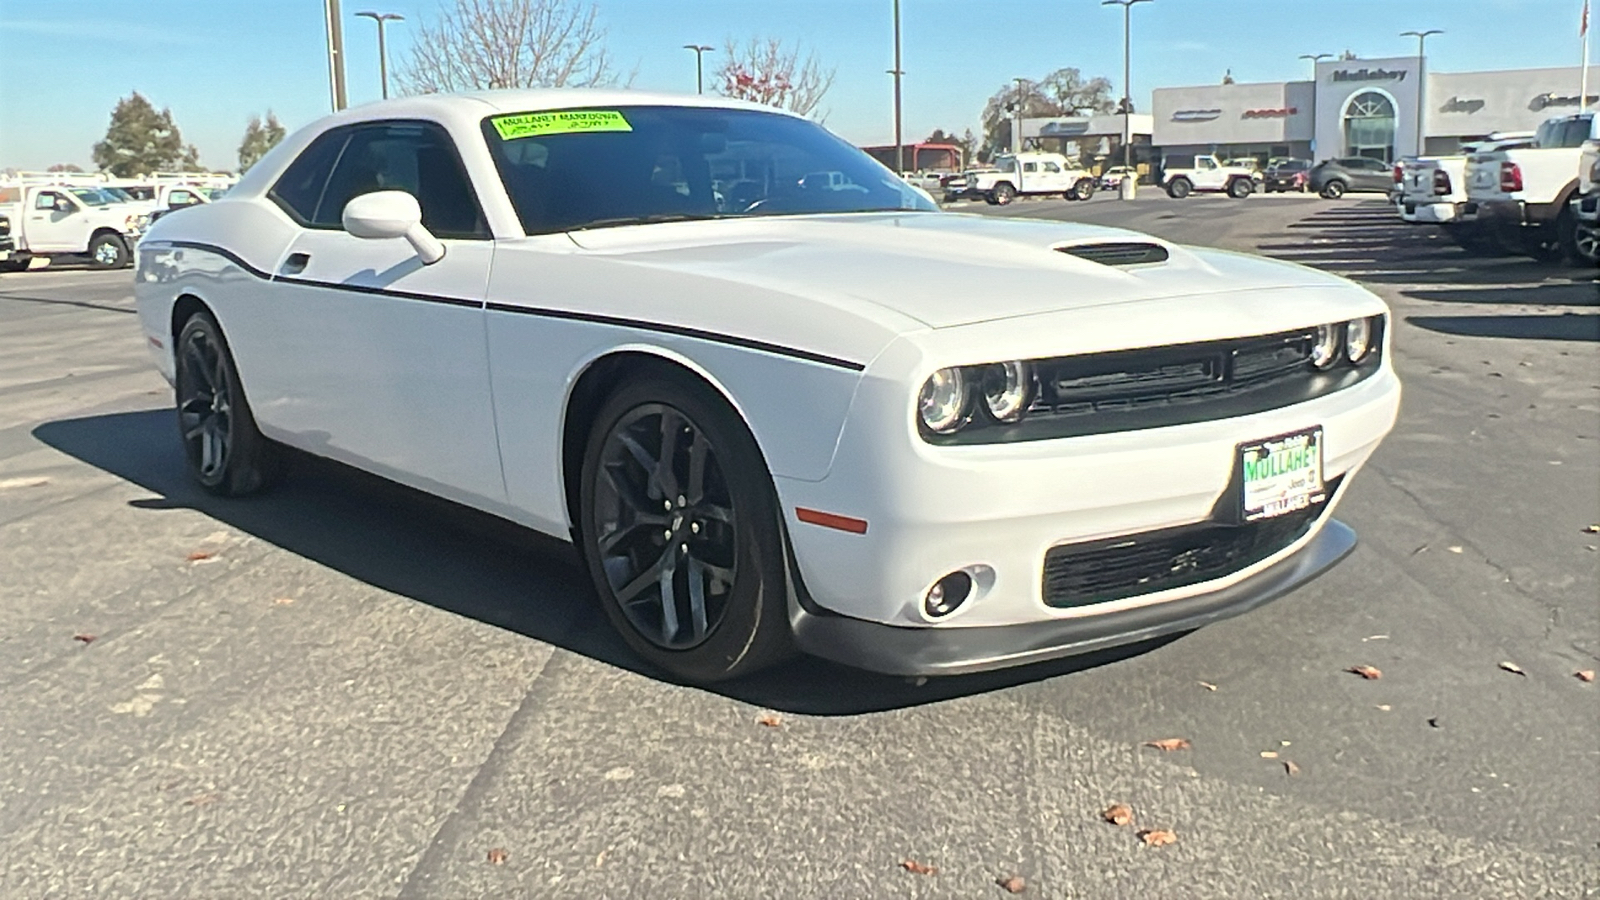
<path id="1" fill-rule="evenodd" d="M 600 612 L 578 551 L 504 519 L 358 469 L 293 453 L 272 492 L 227 500 L 189 479 L 173 413 L 142 410 L 59 420 L 40 442 L 133 482 L 138 509 L 197 509 L 234 528 L 382 591 L 542 641 L 658 681 L 674 681 L 622 642 Z M 856 716 L 1037 682 L 1144 653 L 1165 637 L 997 673 L 904 679 L 810 657 L 706 687 L 811 716 Z"/>

